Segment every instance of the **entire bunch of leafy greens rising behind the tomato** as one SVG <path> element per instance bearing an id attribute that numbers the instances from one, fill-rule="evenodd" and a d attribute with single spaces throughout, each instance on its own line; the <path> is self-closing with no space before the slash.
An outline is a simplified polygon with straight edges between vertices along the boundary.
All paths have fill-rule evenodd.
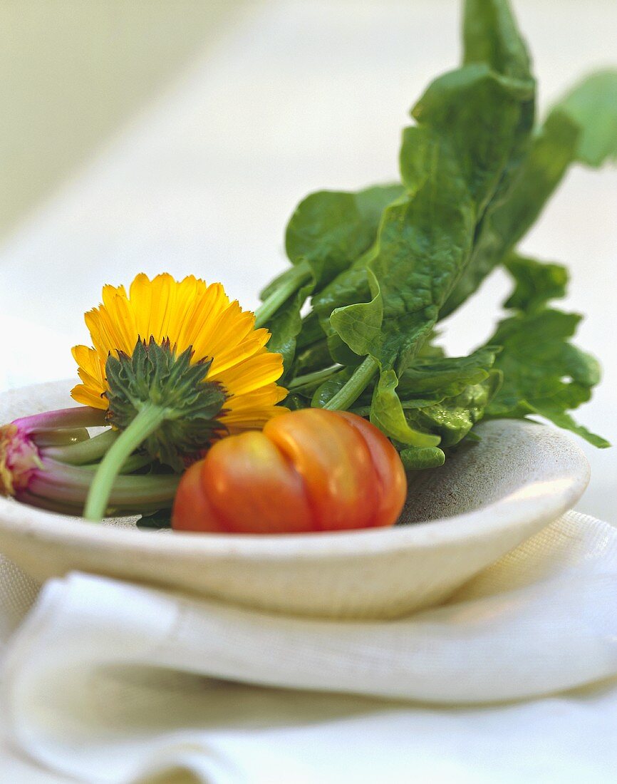
<path id="1" fill-rule="evenodd" d="M 536 125 L 506 0 L 466 0 L 463 51 L 412 109 L 401 183 L 300 202 L 285 237 L 292 267 L 256 314 L 284 358 L 285 405 L 369 416 L 410 469 L 441 465 L 482 418 L 537 415 L 608 445 L 568 413 L 599 368 L 569 342 L 579 315 L 549 305 L 566 271 L 515 248 L 569 165 L 617 155 L 617 71 L 586 78 Z M 514 279 L 511 314 L 470 356 L 445 357 L 437 325 L 497 267 Z"/>

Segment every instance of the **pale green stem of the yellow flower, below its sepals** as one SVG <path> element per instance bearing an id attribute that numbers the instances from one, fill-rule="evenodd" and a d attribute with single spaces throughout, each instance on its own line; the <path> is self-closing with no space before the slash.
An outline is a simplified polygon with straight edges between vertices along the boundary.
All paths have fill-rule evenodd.
<path id="1" fill-rule="evenodd" d="M 157 429 L 167 417 L 165 408 L 158 405 L 144 405 L 126 430 L 114 442 L 94 474 L 88 498 L 85 501 L 84 517 L 98 522 L 103 519 L 107 500 L 114 485 L 114 479 L 122 470 L 125 460 L 143 441 Z"/>

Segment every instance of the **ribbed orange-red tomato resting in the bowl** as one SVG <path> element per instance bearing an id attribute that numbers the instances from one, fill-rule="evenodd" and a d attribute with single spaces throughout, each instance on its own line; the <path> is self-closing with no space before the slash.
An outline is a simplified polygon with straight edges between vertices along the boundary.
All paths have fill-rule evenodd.
<path id="1" fill-rule="evenodd" d="M 223 438 L 180 480 L 177 531 L 273 534 L 376 528 L 407 492 L 396 449 L 355 414 L 303 408 Z"/>

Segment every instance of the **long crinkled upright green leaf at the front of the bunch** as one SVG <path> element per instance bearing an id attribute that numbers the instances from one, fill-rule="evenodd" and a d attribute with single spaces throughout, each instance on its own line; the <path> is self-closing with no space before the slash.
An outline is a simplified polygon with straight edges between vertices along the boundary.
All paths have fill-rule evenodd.
<path id="1" fill-rule="evenodd" d="M 330 317 L 343 342 L 378 365 L 371 419 L 398 441 L 420 445 L 416 430 L 402 424 L 397 376 L 433 332 L 470 260 L 481 216 L 521 145 L 521 115 L 532 96 L 530 79 L 496 74 L 486 64 L 463 66 L 430 85 L 412 111 L 419 125 L 403 136 L 408 195 L 385 209 L 367 263 L 372 300 Z"/>

